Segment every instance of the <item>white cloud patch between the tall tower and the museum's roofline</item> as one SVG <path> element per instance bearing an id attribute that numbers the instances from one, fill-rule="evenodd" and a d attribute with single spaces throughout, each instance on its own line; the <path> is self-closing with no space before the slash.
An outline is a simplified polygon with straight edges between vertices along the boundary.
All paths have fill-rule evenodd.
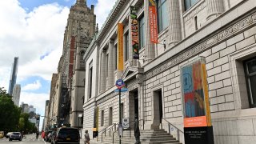
<path id="1" fill-rule="evenodd" d="M 95 5 L 94 13 L 96 14 L 96 21 L 98 22 L 99 28 L 102 27 L 102 24 L 106 21 L 116 1 L 117 0 L 98 0 L 98 3 Z"/>

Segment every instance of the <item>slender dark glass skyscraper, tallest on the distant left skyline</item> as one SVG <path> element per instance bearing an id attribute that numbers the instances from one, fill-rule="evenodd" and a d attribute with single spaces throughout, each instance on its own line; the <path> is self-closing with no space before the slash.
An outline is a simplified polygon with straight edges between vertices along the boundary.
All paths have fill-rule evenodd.
<path id="1" fill-rule="evenodd" d="M 15 57 L 12 70 L 10 73 L 10 83 L 9 83 L 9 90 L 8 90 L 8 94 L 10 95 L 13 95 L 14 86 L 16 84 L 17 73 L 18 73 L 18 57 Z"/>

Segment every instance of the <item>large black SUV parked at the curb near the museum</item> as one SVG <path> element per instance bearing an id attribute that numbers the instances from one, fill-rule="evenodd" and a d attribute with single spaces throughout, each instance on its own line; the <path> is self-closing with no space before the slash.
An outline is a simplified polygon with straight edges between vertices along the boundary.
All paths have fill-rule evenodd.
<path id="1" fill-rule="evenodd" d="M 61 127 L 57 130 L 53 139 L 54 144 L 58 143 L 80 143 L 80 134 L 77 128 Z"/>

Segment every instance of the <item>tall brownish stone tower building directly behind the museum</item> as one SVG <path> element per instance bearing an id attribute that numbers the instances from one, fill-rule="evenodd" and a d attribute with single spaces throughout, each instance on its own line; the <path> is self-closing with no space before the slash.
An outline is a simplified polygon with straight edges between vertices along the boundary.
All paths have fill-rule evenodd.
<path id="1" fill-rule="evenodd" d="M 63 41 L 62 92 L 60 94 L 59 122 L 81 127 L 83 113 L 85 62 L 83 56 L 95 33 L 94 6 L 86 0 L 77 0 L 70 8 Z"/>

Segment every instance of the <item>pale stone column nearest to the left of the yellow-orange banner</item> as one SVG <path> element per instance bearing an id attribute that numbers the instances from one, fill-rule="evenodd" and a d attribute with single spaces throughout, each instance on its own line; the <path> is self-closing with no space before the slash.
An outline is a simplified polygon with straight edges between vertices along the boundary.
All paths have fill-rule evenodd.
<path id="1" fill-rule="evenodd" d="M 107 86 L 114 86 L 114 41 L 110 39 L 109 42 L 109 60 L 108 60 L 108 75 L 107 75 Z"/>

